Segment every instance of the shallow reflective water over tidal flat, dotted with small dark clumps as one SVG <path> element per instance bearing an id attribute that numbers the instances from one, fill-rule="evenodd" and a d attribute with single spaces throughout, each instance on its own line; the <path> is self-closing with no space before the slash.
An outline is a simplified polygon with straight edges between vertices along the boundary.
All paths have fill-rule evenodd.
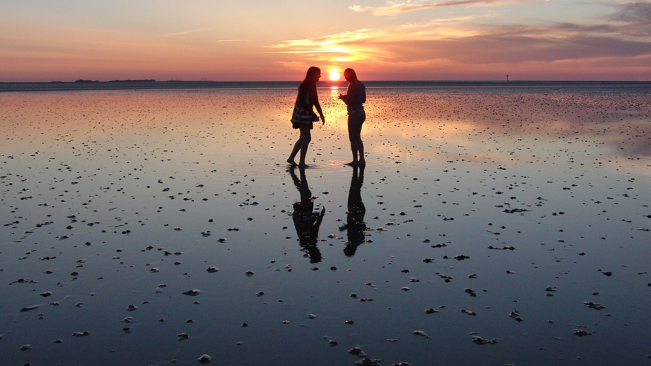
<path id="1" fill-rule="evenodd" d="M 651 354 L 648 90 L 369 88 L 363 171 L 337 92 L 296 180 L 291 89 L 0 94 L 0 363 Z M 325 208 L 316 245 L 297 202 Z"/>

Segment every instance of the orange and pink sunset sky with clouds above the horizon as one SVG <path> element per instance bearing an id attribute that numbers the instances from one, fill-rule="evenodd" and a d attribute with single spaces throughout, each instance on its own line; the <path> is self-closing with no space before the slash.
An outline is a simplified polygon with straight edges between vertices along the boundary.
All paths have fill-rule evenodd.
<path id="1" fill-rule="evenodd" d="M 651 80 L 651 1 L 3 0 L 0 81 Z"/>

